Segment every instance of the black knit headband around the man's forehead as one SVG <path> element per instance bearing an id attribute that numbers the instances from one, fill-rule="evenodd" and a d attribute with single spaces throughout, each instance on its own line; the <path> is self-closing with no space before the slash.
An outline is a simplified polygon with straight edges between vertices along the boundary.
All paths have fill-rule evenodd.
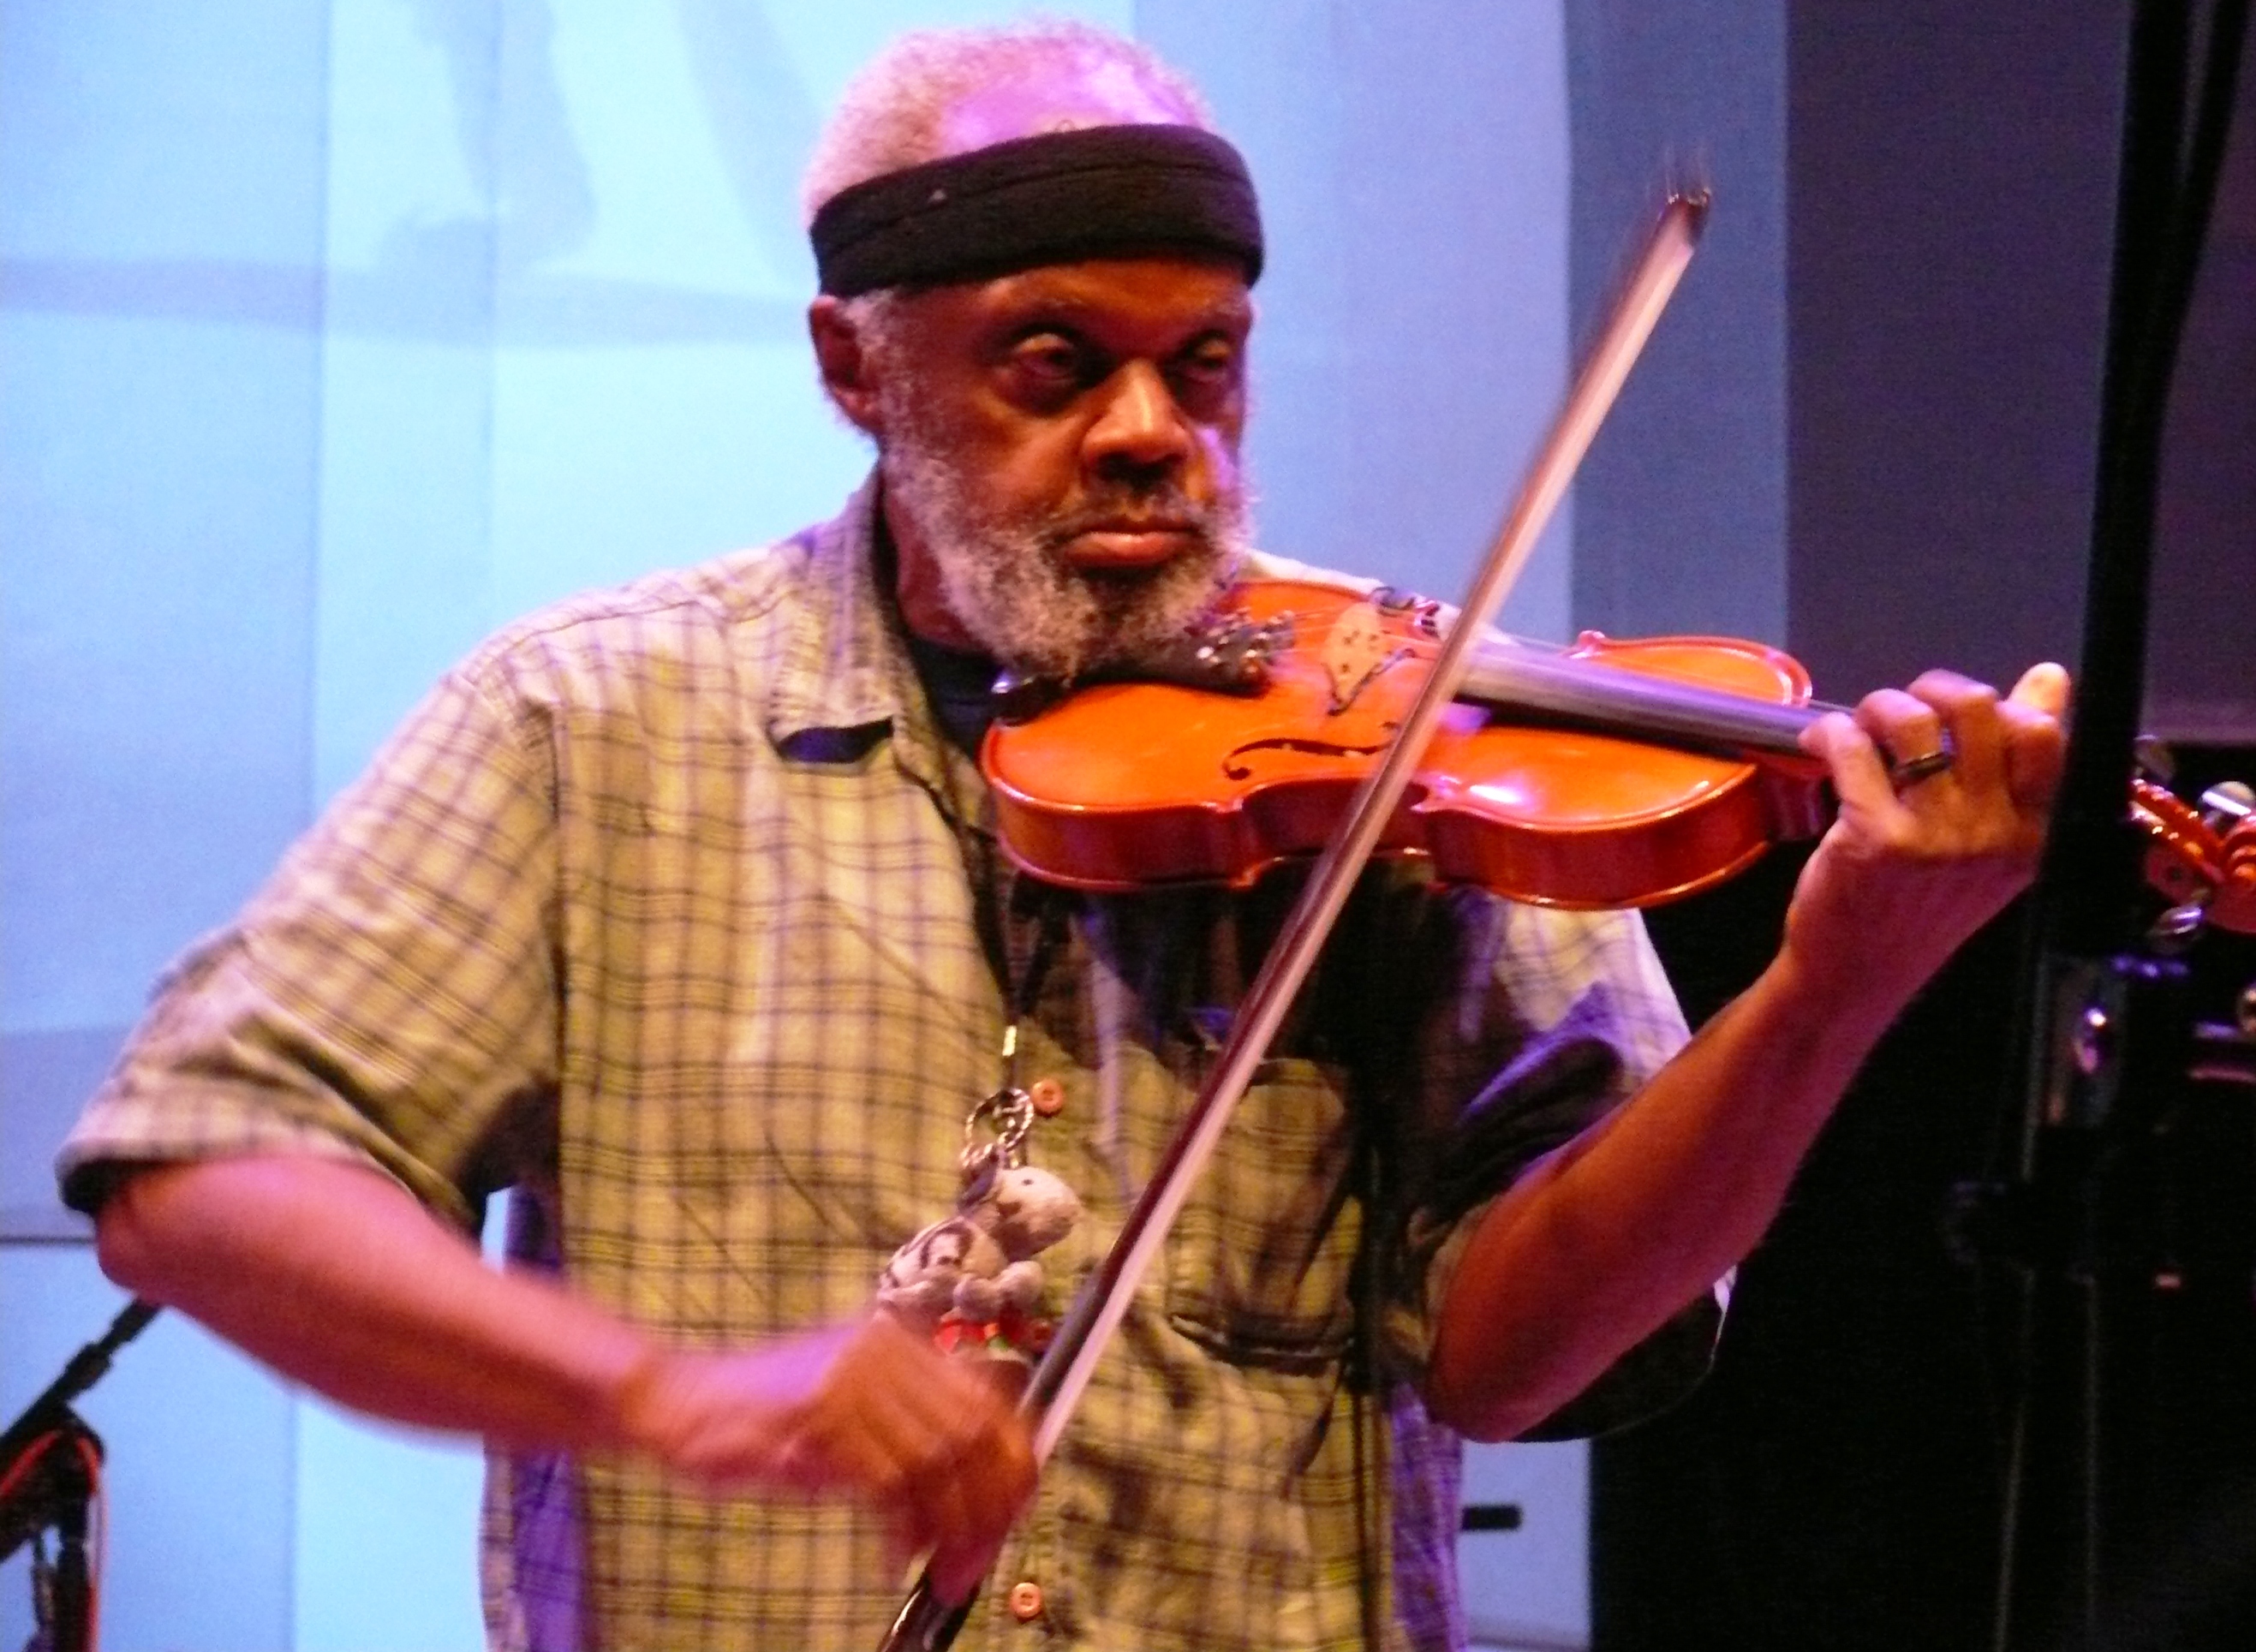
<path id="1" fill-rule="evenodd" d="M 1198 126 L 1085 126 L 887 172 L 823 201 L 821 289 L 932 287 L 1189 248 L 1261 275 L 1261 208 L 1239 151 Z"/>

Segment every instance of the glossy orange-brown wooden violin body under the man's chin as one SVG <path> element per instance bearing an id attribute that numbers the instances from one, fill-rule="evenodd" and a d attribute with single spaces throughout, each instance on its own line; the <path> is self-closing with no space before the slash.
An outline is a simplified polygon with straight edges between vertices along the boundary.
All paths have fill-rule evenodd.
<path id="1" fill-rule="evenodd" d="M 1437 609 L 1302 580 L 1250 582 L 1230 603 L 1293 636 L 1259 693 L 1094 684 L 988 731 L 981 763 L 997 828 L 1026 871 L 1081 889 L 1248 885 L 1324 846 L 1424 682 Z M 1597 634 L 1566 654 L 1489 652 L 1496 670 L 1475 668 L 1448 706 L 1381 853 L 1426 858 L 1446 880 L 1516 900 L 1620 907 L 1692 894 L 1744 869 L 1773 837 L 1823 826 L 1818 770 L 1791 745 L 1809 715 L 1794 711 L 1807 706 L 1809 679 L 1787 654 L 1712 636 Z M 1539 664 L 1545 679 L 1566 673 L 1638 700 L 1681 688 L 1789 715 L 1764 758 L 1654 745 L 1631 729 L 1557 727 L 1557 706 L 1498 704 L 1512 693 L 1514 657 Z M 1484 688 L 1484 677 L 1505 686 Z M 1611 713 L 1566 715 L 1611 722 Z"/>

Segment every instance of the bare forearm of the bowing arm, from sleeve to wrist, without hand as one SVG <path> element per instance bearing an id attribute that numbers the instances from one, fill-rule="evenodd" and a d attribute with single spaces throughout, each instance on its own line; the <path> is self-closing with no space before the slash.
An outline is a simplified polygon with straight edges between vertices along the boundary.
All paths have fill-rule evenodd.
<path id="1" fill-rule="evenodd" d="M 374 1171 L 287 1155 L 149 1169 L 104 1205 L 99 1244 L 117 1284 L 356 1411 L 514 1444 L 632 1444 L 623 1397 L 652 1343 L 490 1268 Z"/>

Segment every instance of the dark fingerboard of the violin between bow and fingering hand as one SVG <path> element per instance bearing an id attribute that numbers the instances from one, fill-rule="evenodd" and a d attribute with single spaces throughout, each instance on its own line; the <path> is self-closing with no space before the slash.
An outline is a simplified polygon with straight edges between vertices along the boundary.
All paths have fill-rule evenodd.
<path id="1" fill-rule="evenodd" d="M 1787 706 L 1647 677 L 1525 643 L 1478 648 L 1457 697 L 1521 720 L 1563 722 L 1742 758 L 1803 756 L 1803 729 L 1827 711 L 1839 711 L 1823 702 Z"/>

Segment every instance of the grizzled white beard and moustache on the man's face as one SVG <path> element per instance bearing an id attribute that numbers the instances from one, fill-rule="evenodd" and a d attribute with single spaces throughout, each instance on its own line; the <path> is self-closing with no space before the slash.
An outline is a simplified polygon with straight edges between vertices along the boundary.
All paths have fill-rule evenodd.
<path id="1" fill-rule="evenodd" d="M 966 467 L 914 418 L 889 418 L 887 508 L 916 524 L 950 614 L 1011 670 L 1078 677 L 1135 666 L 1178 641 L 1236 578 L 1250 544 L 1245 499 L 1193 506 L 1173 485 L 1117 485 L 1069 512 L 1004 515 L 975 497 Z M 1191 524 L 1196 546 L 1157 569 L 1092 573 L 1058 551 L 1123 510 Z"/>

